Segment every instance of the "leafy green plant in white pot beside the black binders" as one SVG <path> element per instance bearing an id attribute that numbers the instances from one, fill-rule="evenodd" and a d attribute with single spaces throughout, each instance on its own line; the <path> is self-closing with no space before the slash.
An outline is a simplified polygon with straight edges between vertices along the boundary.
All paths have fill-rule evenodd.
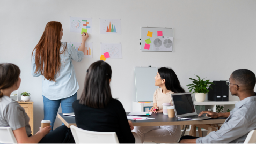
<path id="1" fill-rule="evenodd" d="M 198 77 L 198 75 L 195 76 Z M 213 82 L 209 82 L 210 80 L 204 81 L 205 78 L 200 79 L 200 77 L 198 77 L 198 80 L 192 78 L 189 79 L 193 80 L 193 83 L 187 86 L 189 86 L 189 92 L 192 92 L 193 90 L 192 94 L 195 93 L 195 100 L 199 102 L 203 102 L 204 100 L 206 100 L 206 94 L 208 94 L 209 92 L 207 88 L 210 87 L 211 89 L 213 89 L 210 85 L 215 84 Z"/>

